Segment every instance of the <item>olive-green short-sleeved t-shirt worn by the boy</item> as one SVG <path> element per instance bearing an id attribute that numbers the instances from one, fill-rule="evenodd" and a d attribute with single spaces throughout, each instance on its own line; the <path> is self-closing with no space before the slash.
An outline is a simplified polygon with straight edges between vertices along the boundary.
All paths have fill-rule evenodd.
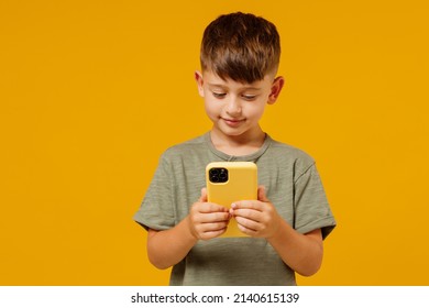
<path id="1" fill-rule="evenodd" d="M 134 220 L 154 230 L 176 226 L 206 187 L 207 164 L 221 161 L 256 163 L 258 185 L 265 186 L 268 200 L 297 232 L 320 228 L 324 239 L 334 228 L 314 160 L 268 135 L 258 151 L 245 156 L 218 151 L 209 133 L 169 147 Z M 174 265 L 170 285 L 296 285 L 296 280 L 265 239 L 217 238 L 198 241 Z"/>

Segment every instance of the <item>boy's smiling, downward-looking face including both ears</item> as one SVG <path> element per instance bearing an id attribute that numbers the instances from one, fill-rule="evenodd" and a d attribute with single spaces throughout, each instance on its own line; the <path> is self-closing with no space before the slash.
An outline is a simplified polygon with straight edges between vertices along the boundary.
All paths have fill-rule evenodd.
<path id="1" fill-rule="evenodd" d="M 226 136 L 252 136 L 260 132 L 265 106 L 276 101 L 284 84 L 283 77 L 274 79 L 271 75 L 253 84 L 241 84 L 223 80 L 210 70 L 197 72 L 195 78 L 213 130 Z"/>

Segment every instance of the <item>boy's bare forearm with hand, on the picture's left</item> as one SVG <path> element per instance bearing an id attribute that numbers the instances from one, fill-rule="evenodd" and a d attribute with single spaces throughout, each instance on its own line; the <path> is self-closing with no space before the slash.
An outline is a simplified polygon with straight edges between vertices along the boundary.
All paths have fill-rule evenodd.
<path id="1" fill-rule="evenodd" d="M 148 230 L 148 260 L 163 270 L 179 263 L 198 240 L 221 235 L 227 230 L 229 219 L 228 209 L 208 204 L 206 189 L 202 189 L 189 215 L 177 226 L 164 231 Z"/>

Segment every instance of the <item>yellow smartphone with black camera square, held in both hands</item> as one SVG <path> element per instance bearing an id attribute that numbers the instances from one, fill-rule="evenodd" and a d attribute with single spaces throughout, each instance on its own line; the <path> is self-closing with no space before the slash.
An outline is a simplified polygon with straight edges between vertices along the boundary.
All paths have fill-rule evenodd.
<path id="1" fill-rule="evenodd" d="M 207 199 L 231 208 L 241 200 L 257 200 L 257 166 L 252 162 L 215 162 L 206 167 Z M 248 237 L 231 218 L 222 238 Z"/>

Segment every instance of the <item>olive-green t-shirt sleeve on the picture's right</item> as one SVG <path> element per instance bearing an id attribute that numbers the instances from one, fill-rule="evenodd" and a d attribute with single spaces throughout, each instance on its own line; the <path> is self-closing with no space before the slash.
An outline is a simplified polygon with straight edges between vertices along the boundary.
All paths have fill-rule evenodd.
<path id="1" fill-rule="evenodd" d="M 324 239 L 333 230 L 337 222 L 315 163 L 295 180 L 294 185 L 295 229 L 299 233 L 321 229 Z"/>

